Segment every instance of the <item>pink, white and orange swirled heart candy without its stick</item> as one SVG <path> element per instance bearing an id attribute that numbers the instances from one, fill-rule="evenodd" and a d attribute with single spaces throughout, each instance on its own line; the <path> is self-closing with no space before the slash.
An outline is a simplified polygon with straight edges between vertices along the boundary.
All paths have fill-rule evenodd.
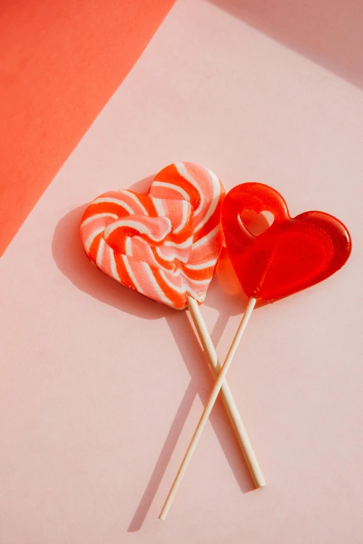
<path id="1" fill-rule="evenodd" d="M 86 208 L 81 240 L 90 261 L 108 276 L 156 302 L 202 302 L 223 245 L 216 174 L 175 163 L 156 174 L 148 195 L 106 192 Z"/>

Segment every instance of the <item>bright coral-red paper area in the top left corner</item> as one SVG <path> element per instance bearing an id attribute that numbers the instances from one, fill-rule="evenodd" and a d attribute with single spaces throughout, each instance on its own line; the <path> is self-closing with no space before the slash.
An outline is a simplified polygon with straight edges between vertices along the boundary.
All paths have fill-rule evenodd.
<path id="1" fill-rule="evenodd" d="M 174 1 L 3 3 L 0 255 Z"/>

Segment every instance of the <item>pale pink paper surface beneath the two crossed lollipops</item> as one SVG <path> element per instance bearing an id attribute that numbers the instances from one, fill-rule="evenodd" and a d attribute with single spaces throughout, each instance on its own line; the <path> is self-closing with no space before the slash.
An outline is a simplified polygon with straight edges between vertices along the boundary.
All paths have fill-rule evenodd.
<path id="1" fill-rule="evenodd" d="M 177 1 L 1 259 L 1 544 L 362 542 L 358 3 L 340 17 L 309 0 L 310 22 L 297 3 L 216 4 Z M 187 313 L 102 275 L 78 226 L 90 199 L 174 160 L 337 215 L 354 247 L 334 277 L 257 309 L 229 372 L 266 488 L 218 404 L 160 522 L 211 376 Z M 220 358 L 245 306 L 229 279 L 202 306 Z"/>

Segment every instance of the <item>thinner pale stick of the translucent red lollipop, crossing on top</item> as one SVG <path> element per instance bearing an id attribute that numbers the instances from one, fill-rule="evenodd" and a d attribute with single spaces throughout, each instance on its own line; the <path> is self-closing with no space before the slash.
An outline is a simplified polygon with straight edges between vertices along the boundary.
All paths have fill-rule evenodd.
<path id="1" fill-rule="evenodd" d="M 170 506 L 172 504 L 172 500 L 174 499 L 177 490 L 179 488 L 179 485 L 181 483 L 181 479 L 184 476 L 184 472 L 186 471 L 186 468 L 188 467 L 189 462 L 191 461 L 191 457 L 193 455 L 193 452 L 195 450 L 195 447 L 197 446 L 198 440 L 200 439 L 200 436 L 202 436 L 202 431 L 205 427 L 205 424 L 207 423 L 207 420 L 209 418 L 209 415 L 213 409 L 214 403 L 216 402 L 216 398 L 218 397 L 218 393 L 220 392 L 220 388 L 223 385 L 223 381 L 225 380 L 225 376 L 227 374 L 227 371 L 229 369 L 229 365 L 232 363 L 232 359 L 234 357 L 234 354 L 236 353 L 236 349 L 239 346 L 239 343 L 241 341 L 241 338 L 243 336 L 243 332 L 245 331 L 245 327 L 248 324 L 248 320 L 250 319 L 251 313 L 253 311 L 253 308 L 255 308 L 256 299 L 251 298 L 248 302 L 248 306 L 245 309 L 245 313 L 243 315 L 243 318 L 241 320 L 241 323 L 239 324 L 239 328 L 237 329 L 236 336 L 234 336 L 234 340 L 232 342 L 231 347 L 229 348 L 229 352 L 227 354 L 227 357 L 225 359 L 225 363 L 223 364 L 222 369 L 220 370 L 218 377 L 216 379 L 216 383 L 213 386 L 213 389 L 211 390 L 211 395 L 209 396 L 207 405 L 204 408 L 204 411 L 202 413 L 202 416 L 199 420 L 199 423 L 197 425 L 197 428 L 194 431 L 193 438 L 191 439 L 191 443 L 188 446 L 188 450 L 186 450 L 186 454 L 184 456 L 183 461 L 181 461 L 181 465 L 179 467 L 179 470 L 177 472 L 177 476 L 175 477 L 175 480 L 172 484 L 172 487 L 169 491 L 168 497 L 166 497 L 166 502 L 164 503 L 163 508 L 161 509 L 161 513 L 159 516 L 160 520 L 165 520 L 166 516 L 168 515 L 168 511 L 170 509 Z"/>

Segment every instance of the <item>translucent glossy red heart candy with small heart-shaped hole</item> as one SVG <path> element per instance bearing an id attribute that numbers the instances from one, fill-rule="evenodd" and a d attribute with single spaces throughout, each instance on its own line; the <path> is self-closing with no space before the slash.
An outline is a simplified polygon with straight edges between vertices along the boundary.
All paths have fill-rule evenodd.
<path id="1" fill-rule="evenodd" d="M 273 214 L 271 226 L 261 215 L 264 212 Z M 260 224 L 264 220 L 267 227 L 258 236 L 249 226 L 254 214 L 260 214 L 256 219 Z M 290 217 L 282 196 L 262 183 L 242 183 L 229 191 L 221 221 L 227 252 L 245 294 L 268 302 L 328 278 L 346 263 L 351 251 L 343 223 L 318 211 Z"/>

